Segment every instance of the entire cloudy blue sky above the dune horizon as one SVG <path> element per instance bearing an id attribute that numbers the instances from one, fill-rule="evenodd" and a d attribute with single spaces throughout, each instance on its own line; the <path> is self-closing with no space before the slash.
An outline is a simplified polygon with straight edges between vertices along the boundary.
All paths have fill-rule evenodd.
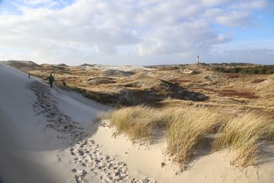
<path id="1" fill-rule="evenodd" d="M 0 60 L 274 64 L 274 0 L 0 0 Z"/>

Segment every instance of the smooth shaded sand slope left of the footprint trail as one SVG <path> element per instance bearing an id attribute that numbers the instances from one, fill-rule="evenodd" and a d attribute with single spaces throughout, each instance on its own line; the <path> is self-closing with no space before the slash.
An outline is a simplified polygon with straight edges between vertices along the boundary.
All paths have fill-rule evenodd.
<path id="1" fill-rule="evenodd" d="M 36 116 L 36 96 L 26 88 L 27 75 L 0 64 L 0 171 L 4 182 L 52 182 L 58 175 L 45 169 L 32 154 L 63 148 L 60 141 L 46 142 L 43 119 Z M 50 138 L 48 138 L 51 140 Z M 42 157 L 40 158 L 42 160 Z M 38 160 L 38 161 L 40 161 Z M 42 160 L 45 161 L 45 160 Z"/>

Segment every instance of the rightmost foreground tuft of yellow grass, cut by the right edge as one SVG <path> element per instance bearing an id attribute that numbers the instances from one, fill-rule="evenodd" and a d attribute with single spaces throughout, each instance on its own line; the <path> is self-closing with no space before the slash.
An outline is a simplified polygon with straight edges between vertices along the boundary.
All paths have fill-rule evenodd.
<path id="1" fill-rule="evenodd" d="M 262 143 L 271 141 L 273 132 L 273 120 L 269 115 L 242 112 L 219 129 L 214 149 L 231 149 L 234 152 L 232 164 L 236 166 L 256 165 Z"/>

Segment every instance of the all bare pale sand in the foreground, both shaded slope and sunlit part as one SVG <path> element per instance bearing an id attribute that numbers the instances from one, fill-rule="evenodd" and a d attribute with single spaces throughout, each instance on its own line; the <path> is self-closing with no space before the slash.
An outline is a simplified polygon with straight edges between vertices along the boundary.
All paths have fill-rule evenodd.
<path id="1" fill-rule="evenodd" d="M 3 64 L 0 82 L 0 182 L 274 182 L 273 161 L 240 170 L 225 152 L 175 175 L 163 142 L 132 145 L 92 123 L 109 107 Z"/>

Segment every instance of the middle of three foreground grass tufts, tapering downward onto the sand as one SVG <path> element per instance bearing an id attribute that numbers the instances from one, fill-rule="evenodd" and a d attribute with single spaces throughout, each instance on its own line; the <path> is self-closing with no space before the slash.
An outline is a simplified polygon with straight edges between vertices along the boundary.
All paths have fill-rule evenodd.
<path id="1" fill-rule="evenodd" d="M 206 108 L 183 108 L 173 112 L 167 131 L 167 151 L 182 169 L 192 160 L 204 137 L 223 123 L 218 113 Z"/>

